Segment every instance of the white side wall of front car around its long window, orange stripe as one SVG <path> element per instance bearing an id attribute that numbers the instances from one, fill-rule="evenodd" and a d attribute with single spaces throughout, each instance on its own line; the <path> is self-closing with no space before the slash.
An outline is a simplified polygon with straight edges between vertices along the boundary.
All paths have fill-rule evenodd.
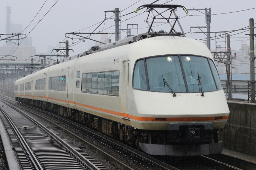
<path id="1" fill-rule="evenodd" d="M 125 122 L 122 85 L 122 61 L 126 60 L 128 49 L 131 45 L 121 46 L 119 48 L 109 49 L 103 52 L 97 52 L 79 58 L 76 63 L 76 71 L 80 71 L 79 88 L 75 88 L 75 103 L 78 110 L 110 119 L 117 122 Z M 99 94 L 86 91 L 85 82 L 82 81 L 86 73 L 110 73 L 119 71 L 119 94 Z M 105 74 L 104 73 L 104 74 Z M 106 73 L 107 74 L 107 73 Z M 98 79 L 97 86 L 100 86 Z M 83 84 L 85 83 L 85 84 Z M 107 84 L 106 84 L 107 85 Z M 83 90 L 83 91 L 82 91 Z M 128 124 L 129 125 L 129 124 Z"/>

